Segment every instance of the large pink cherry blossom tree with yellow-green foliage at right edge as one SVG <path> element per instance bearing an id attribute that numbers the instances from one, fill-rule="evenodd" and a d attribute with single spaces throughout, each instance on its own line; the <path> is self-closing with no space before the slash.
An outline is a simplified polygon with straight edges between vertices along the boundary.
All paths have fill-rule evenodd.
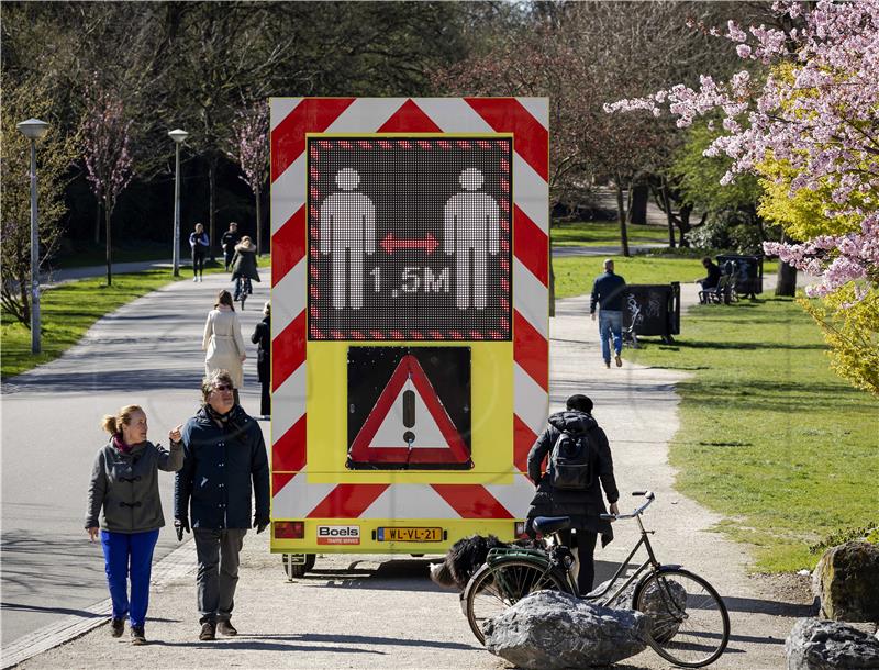
<path id="1" fill-rule="evenodd" d="M 804 192 L 826 193 L 822 223 L 811 237 L 765 243 L 764 250 L 820 278 L 806 293 L 830 299 L 825 305 L 833 313 L 820 323 L 845 338 L 845 324 L 876 323 L 849 319 L 846 310 L 864 301 L 879 310 L 879 0 L 821 0 L 812 8 L 786 1 L 772 9 L 786 27 L 745 31 L 730 22 L 724 33 L 711 29 L 734 42 L 742 59 L 767 67 L 765 77 L 749 69 L 723 82 L 702 76 L 698 89 L 679 85 L 605 110 L 659 116 L 668 109 L 681 127 L 720 111 L 725 133 L 705 155 L 732 158 L 722 183 L 754 172 L 787 186 L 791 201 Z M 839 300 L 842 294 L 847 299 Z M 870 308 L 858 306 L 865 309 Z M 879 360 L 875 331 L 849 335 L 849 343 L 859 338 L 863 357 Z M 841 371 L 879 393 L 857 371 Z"/>

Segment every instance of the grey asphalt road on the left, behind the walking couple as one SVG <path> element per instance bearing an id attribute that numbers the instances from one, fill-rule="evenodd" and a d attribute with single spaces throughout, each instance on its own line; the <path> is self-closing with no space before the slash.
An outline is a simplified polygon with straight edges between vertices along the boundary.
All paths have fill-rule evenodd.
<path id="1" fill-rule="evenodd" d="M 256 346 L 249 345 L 268 298 L 268 273 L 254 283 L 242 314 L 248 343 L 245 410 L 259 410 Z M 140 404 L 149 439 L 167 445 L 168 431 L 199 405 L 201 336 L 226 276 L 181 281 L 99 321 L 65 356 L 2 387 L 2 645 L 107 598 L 103 558 L 82 528 L 91 464 L 107 435 L 100 421 Z M 75 308 L 75 305 L 71 305 Z M 263 423 L 268 437 L 268 424 Z M 160 476 L 170 523 L 173 476 Z M 166 527 L 156 560 L 177 546 Z"/>

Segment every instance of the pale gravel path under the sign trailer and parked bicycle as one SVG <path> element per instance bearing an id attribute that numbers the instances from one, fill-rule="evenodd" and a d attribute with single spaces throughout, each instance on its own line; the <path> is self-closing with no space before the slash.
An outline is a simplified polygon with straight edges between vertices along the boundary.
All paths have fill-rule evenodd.
<path id="1" fill-rule="evenodd" d="M 771 286 L 769 278 L 766 286 Z M 685 304 L 696 300 L 693 284 L 685 284 L 682 292 Z M 783 667 L 783 638 L 790 632 L 792 616 L 805 615 L 809 607 L 798 602 L 778 602 L 761 580 L 746 577 L 746 548 L 713 533 L 712 525 L 720 520 L 672 489 L 675 472 L 668 465 L 667 450 L 678 427 L 675 383 L 682 375 L 638 366 L 633 362 L 635 354 L 628 350 L 622 369 L 605 369 L 598 349 L 597 327 L 583 316 L 586 308 L 585 298 L 559 301 L 557 316 L 552 320 L 552 409 L 559 409 L 575 391 L 594 399 L 596 416 L 611 438 L 621 490 L 649 488 L 657 493 L 646 522 L 657 531 L 653 540 L 659 557 L 687 565 L 725 596 L 733 637 L 727 652 L 713 668 Z M 686 322 L 683 328 L 686 335 Z M 188 398 L 180 397 L 178 402 L 185 404 Z M 100 410 L 88 409 L 89 425 L 103 409 L 103 404 Z M 151 417 L 160 414 L 158 407 L 148 412 Z M 179 410 L 173 414 L 178 413 Z M 160 421 L 154 421 L 154 426 Z M 170 418 L 166 423 L 170 425 Z M 90 455 L 93 445 L 84 445 L 82 449 Z M 70 495 L 77 498 L 81 498 L 79 479 L 70 490 Z M 624 498 L 623 504 L 626 503 L 632 504 L 632 500 Z M 612 571 L 613 561 L 624 557 L 635 537 L 631 523 L 621 523 L 616 532 L 616 541 L 598 552 L 599 579 Z M 164 535 L 170 533 L 166 531 Z M 167 537 L 164 540 L 167 546 Z M 352 563 L 355 558 L 361 562 Z M 89 560 L 94 569 L 88 583 L 94 593 L 102 592 L 100 559 L 91 556 Z M 438 590 L 426 579 L 426 562 L 322 557 L 313 574 L 287 582 L 278 557 L 267 551 L 267 538 L 251 535 L 236 596 L 235 622 L 242 633 L 238 638 L 210 644 L 196 640 L 190 571 L 171 576 L 154 590 L 147 624 L 147 636 L 155 640 L 151 646 L 131 647 L 124 638 L 112 639 L 107 626 L 101 626 L 23 667 L 91 670 L 148 662 L 156 668 L 231 663 L 283 668 L 507 668 L 505 662 L 475 645 L 457 596 Z M 668 667 L 650 651 L 630 659 L 630 663 L 617 668 Z"/>

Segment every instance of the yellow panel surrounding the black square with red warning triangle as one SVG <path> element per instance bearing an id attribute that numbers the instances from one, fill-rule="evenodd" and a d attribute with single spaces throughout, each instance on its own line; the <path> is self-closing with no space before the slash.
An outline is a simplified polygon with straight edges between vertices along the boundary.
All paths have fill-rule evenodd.
<path id="1" fill-rule="evenodd" d="M 345 467 L 348 342 L 309 342 L 308 481 L 310 483 L 496 483 L 513 481 L 512 342 L 364 342 L 369 346 L 468 346 L 472 470 L 349 470 Z"/>

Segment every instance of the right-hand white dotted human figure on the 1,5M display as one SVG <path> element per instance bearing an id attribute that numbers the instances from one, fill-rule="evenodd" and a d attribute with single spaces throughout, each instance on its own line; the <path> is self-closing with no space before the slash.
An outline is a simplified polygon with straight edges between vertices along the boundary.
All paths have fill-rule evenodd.
<path id="1" fill-rule="evenodd" d="M 475 192 L 485 177 L 476 168 L 467 168 L 458 177 L 463 193 L 455 193 L 443 212 L 443 250 L 455 255 L 455 293 L 459 310 L 470 306 L 472 275 L 472 306 L 486 308 L 488 255 L 498 254 L 500 211 L 494 199 Z M 470 260 L 472 250 L 472 261 Z M 471 269 L 472 268 L 472 269 Z"/>

